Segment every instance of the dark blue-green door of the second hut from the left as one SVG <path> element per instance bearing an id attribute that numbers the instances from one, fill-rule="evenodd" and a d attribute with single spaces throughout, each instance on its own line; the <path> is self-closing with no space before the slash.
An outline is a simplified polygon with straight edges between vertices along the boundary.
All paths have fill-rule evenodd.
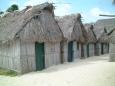
<path id="1" fill-rule="evenodd" d="M 73 61 L 73 41 L 68 43 L 68 62 Z"/>

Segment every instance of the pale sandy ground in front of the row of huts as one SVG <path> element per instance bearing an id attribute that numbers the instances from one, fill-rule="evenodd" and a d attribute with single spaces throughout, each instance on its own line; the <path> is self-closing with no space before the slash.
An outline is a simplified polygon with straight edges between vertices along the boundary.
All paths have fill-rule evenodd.
<path id="1" fill-rule="evenodd" d="M 0 76 L 0 86 L 115 86 L 115 62 L 89 57 L 21 76 Z"/>

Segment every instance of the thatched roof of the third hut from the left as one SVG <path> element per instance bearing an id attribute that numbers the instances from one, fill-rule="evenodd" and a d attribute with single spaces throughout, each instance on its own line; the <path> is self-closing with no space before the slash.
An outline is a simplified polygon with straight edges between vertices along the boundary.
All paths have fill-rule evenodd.
<path id="1" fill-rule="evenodd" d="M 94 27 L 91 24 L 85 24 L 85 29 L 87 31 L 87 36 L 88 36 L 88 43 L 95 43 L 97 42 L 96 34 L 94 33 Z"/>

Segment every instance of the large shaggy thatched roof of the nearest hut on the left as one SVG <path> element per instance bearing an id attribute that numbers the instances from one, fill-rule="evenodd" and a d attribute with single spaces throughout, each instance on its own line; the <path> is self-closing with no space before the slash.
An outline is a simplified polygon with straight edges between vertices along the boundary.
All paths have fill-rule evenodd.
<path id="1" fill-rule="evenodd" d="M 0 18 L 0 41 L 20 38 L 23 41 L 57 42 L 62 32 L 54 19 L 53 5 L 27 7 Z"/>

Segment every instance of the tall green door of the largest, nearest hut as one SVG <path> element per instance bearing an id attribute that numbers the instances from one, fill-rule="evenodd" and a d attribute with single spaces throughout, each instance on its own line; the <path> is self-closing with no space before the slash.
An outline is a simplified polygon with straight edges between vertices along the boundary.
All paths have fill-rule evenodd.
<path id="1" fill-rule="evenodd" d="M 44 43 L 35 43 L 36 70 L 45 68 Z"/>

